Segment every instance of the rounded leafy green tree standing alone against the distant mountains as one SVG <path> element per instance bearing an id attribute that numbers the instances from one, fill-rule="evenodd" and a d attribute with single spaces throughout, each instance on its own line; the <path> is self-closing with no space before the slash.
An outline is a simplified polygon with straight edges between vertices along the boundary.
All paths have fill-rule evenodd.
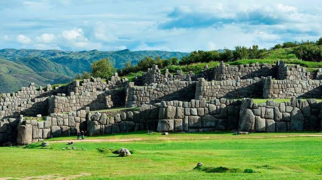
<path id="1" fill-rule="evenodd" d="M 109 58 L 94 61 L 90 66 L 90 69 L 91 69 L 91 75 L 94 78 L 107 79 L 107 78 L 110 78 L 115 72 L 113 64 L 109 61 Z"/>

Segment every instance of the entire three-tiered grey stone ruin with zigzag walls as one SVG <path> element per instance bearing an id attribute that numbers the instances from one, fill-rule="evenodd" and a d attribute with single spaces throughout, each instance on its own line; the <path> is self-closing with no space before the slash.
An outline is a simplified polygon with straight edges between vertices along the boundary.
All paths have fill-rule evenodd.
<path id="1" fill-rule="evenodd" d="M 199 74 L 151 69 L 129 82 L 118 74 L 36 88 L 0 100 L 0 143 L 28 144 L 83 130 L 88 135 L 150 130 L 285 132 L 321 129 L 322 69 L 270 64 L 204 67 Z M 290 98 L 256 104 L 251 98 Z M 117 109 L 117 107 L 126 107 Z M 113 111 L 105 109 L 116 108 Z M 104 110 L 103 110 L 104 109 Z M 101 111 L 100 111 L 101 110 Z M 42 121 L 30 119 L 41 114 Z"/>

